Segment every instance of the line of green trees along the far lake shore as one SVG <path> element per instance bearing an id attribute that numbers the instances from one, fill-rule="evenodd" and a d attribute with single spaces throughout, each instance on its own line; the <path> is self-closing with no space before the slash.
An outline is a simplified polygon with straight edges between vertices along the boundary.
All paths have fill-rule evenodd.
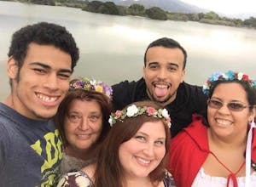
<path id="1" fill-rule="evenodd" d="M 9 0 L 6 0 L 9 1 Z M 159 7 L 145 8 L 142 4 L 134 3 L 128 7 L 116 5 L 113 2 L 100 2 L 88 0 L 17 0 L 22 3 L 35 3 L 51 6 L 67 6 L 73 8 L 81 8 L 84 11 L 100 14 L 114 14 L 114 15 L 134 15 L 147 17 L 153 20 L 179 20 L 179 21 L 198 21 L 201 23 L 223 25 L 223 26 L 238 26 L 256 28 L 256 18 L 250 17 L 246 20 L 231 19 L 228 17 L 221 17 L 215 12 L 195 13 L 176 13 L 168 12 Z"/>

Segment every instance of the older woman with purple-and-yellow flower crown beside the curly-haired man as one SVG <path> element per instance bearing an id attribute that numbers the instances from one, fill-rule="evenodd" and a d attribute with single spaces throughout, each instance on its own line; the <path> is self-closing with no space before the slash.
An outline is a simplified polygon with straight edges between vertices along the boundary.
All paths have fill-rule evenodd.
<path id="1" fill-rule="evenodd" d="M 109 130 L 112 88 L 104 82 L 77 78 L 55 116 L 63 140 L 61 174 L 79 170 L 95 161 L 99 144 Z"/>

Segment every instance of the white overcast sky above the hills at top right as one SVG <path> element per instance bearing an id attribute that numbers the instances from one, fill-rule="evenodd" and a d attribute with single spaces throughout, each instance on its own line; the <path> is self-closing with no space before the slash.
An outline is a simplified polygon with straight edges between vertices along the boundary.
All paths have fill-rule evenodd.
<path id="1" fill-rule="evenodd" d="M 256 13 L 256 0 L 181 0 L 223 14 Z"/>

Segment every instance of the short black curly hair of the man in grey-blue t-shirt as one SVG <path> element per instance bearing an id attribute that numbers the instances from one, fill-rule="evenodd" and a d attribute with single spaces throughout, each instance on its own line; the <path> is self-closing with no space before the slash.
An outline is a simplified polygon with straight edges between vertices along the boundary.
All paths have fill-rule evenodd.
<path id="1" fill-rule="evenodd" d="M 70 54 L 72 71 L 79 60 L 79 48 L 73 36 L 65 27 L 53 23 L 39 22 L 20 28 L 12 36 L 8 56 L 13 56 L 16 60 L 19 71 L 26 57 L 28 45 L 32 42 L 39 45 L 52 45 Z"/>

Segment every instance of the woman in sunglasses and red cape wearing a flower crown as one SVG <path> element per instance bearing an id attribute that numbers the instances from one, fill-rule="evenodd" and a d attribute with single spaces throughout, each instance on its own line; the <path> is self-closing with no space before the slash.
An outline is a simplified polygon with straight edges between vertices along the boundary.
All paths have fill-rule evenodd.
<path id="1" fill-rule="evenodd" d="M 170 171 L 179 187 L 256 186 L 256 81 L 241 72 L 215 72 L 207 120 L 194 121 L 171 139 Z"/>

